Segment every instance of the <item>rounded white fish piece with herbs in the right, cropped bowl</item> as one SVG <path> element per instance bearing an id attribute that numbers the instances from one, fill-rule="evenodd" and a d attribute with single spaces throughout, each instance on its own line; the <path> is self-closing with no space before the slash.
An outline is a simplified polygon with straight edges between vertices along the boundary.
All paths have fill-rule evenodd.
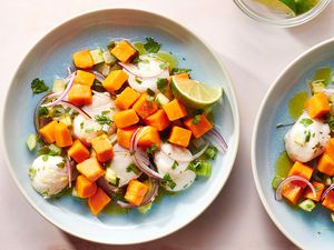
<path id="1" fill-rule="evenodd" d="M 285 150 L 293 161 L 311 161 L 324 152 L 330 133 L 327 123 L 304 112 L 285 134 Z"/>

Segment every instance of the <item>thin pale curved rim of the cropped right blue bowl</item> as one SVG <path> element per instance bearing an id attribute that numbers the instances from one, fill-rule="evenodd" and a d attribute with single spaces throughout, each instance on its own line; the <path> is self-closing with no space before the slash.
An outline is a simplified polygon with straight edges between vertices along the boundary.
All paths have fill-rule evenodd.
<path id="1" fill-rule="evenodd" d="M 322 49 L 323 47 L 326 47 L 331 43 L 334 43 L 334 38 L 327 39 L 323 42 L 320 42 L 315 46 L 313 46 L 312 48 L 307 49 L 306 51 L 304 51 L 302 54 L 299 54 L 296 59 L 294 59 L 292 62 L 289 62 L 284 69 L 283 71 L 278 74 L 278 77 L 274 80 L 274 82 L 272 83 L 272 86 L 269 87 L 269 89 L 267 90 L 261 106 L 258 109 L 258 112 L 256 114 L 255 118 L 255 123 L 254 123 L 254 128 L 253 128 L 253 134 L 252 134 L 252 152 L 250 152 L 250 160 L 252 160 L 252 172 L 253 172 L 253 179 L 256 186 L 256 191 L 261 198 L 262 204 L 265 208 L 266 212 L 268 213 L 269 218 L 272 219 L 272 221 L 274 222 L 274 224 L 279 229 L 279 231 L 287 238 L 289 239 L 295 246 L 297 246 L 298 248 L 303 249 L 303 242 L 297 241 L 296 239 L 294 239 L 294 237 L 292 234 L 288 234 L 288 232 L 285 230 L 284 226 L 279 222 L 279 218 L 277 216 L 275 216 L 275 213 L 273 212 L 273 210 L 271 209 L 271 206 L 268 204 L 265 194 L 261 188 L 261 183 L 259 183 L 259 178 L 258 178 L 258 169 L 257 169 L 257 162 L 256 162 L 256 144 L 257 144 L 257 133 L 259 131 L 259 121 L 262 119 L 263 116 L 263 110 L 266 106 L 266 103 L 269 100 L 269 97 L 272 96 L 272 93 L 274 92 L 274 90 L 276 89 L 276 87 L 278 86 L 278 82 L 281 81 L 282 78 L 284 78 L 285 73 L 295 64 L 299 63 L 301 61 L 303 61 L 304 58 L 306 58 L 310 53 Z"/>

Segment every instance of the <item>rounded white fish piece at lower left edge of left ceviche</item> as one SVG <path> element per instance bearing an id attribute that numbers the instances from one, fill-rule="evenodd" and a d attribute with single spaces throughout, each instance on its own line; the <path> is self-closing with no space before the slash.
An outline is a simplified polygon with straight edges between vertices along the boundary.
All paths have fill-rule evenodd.
<path id="1" fill-rule="evenodd" d="M 30 168 L 32 187 L 45 197 L 53 196 L 68 186 L 68 169 L 59 167 L 65 164 L 63 157 L 40 156 Z M 32 174 L 33 173 L 33 174 Z"/>

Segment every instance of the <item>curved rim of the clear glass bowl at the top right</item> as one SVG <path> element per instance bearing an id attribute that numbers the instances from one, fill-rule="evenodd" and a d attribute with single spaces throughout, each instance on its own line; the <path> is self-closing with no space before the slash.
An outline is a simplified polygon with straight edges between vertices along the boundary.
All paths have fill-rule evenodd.
<path id="1" fill-rule="evenodd" d="M 275 27 L 281 27 L 281 28 L 292 28 L 292 27 L 301 26 L 305 22 L 308 22 L 312 19 L 314 19 L 315 17 L 317 17 L 321 12 L 323 12 L 326 9 L 326 7 L 330 4 L 330 2 L 332 0 L 321 0 L 310 11 L 307 11 L 303 14 L 293 17 L 293 18 L 282 19 L 282 20 L 274 20 L 274 19 L 268 19 L 265 17 L 262 17 L 256 11 L 249 9 L 249 7 L 247 7 L 243 0 L 233 0 L 233 1 L 245 14 L 247 14 L 253 20 L 256 20 L 256 21 L 262 22 L 267 26 L 275 26 Z"/>

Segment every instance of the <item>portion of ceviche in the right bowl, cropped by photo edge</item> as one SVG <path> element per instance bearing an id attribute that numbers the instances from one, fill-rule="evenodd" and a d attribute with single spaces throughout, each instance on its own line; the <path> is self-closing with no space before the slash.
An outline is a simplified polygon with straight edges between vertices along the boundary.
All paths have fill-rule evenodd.
<path id="1" fill-rule="evenodd" d="M 276 199 L 311 212 L 323 206 L 334 222 L 334 88 L 331 68 L 321 68 L 303 91 L 289 101 L 296 120 L 285 134 L 285 150 L 276 161 Z"/>

